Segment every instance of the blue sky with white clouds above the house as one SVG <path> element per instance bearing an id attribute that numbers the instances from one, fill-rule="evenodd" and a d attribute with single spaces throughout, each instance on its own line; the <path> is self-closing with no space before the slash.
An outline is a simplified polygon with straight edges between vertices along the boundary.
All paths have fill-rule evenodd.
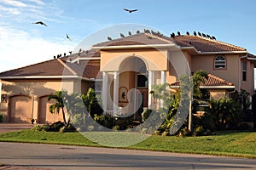
<path id="1" fill-rule="evenodd" d="M 0 72 L 53 59 L 95 32 L 124 24 L 166 36 L 200 31 L 256 54 L 255 7 L 254 0 L 1 0 Z"/>

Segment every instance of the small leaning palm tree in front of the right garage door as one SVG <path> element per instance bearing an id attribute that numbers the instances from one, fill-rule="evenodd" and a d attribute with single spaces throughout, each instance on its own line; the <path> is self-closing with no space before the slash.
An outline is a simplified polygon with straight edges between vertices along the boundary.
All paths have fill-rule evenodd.
<path id="1" fill-rule="evenodd" d="M 62 116 L 63 116 L 63 122 L 65 124 L 65 126 L 67 126 L 67 121 L 66 121 L 66 116 L 65 116 L 65 111 L 64 111 L 64 102 L 63 102 L 63 96 L 67 94 L 66 91 L 64 90 L 60 90 L 60 91 L 56 91 L 55 94 L 50 94 L 48 96 L 48 101 L 50 99 L 54 99 L 55 100 L 55 104 L 54 105 L 49 105 L 49 112 L 50 113 L 57 113 L 60 114 L 60 110 L 62 112 Z"/>

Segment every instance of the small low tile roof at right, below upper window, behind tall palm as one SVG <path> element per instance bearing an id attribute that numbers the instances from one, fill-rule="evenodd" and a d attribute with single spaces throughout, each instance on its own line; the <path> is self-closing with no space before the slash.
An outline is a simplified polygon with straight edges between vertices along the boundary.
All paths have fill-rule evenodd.
<path id="1" fill-rule="evenodd" d="M 216 77 L 212 74 L 208 74 L 208 79 L 204 78 L 205 82 L 201 83 L 201 87 L 234 87 L 234 84 L 231 82 L 227 82 L 223 78 Z M 174 82 L 171 84 L 172 88 L 176 88 L 179 86 L 179 82 Z"/>

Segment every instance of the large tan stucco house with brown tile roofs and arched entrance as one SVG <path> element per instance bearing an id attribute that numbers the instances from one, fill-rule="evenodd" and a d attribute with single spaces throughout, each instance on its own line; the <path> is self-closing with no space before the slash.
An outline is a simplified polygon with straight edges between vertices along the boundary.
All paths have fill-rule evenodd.
<path id="1" fill-rule="evenodd" d="M 241 90 L 252 96 L 255 61 L 246 48 L 212 37 L 137 31 L 78 54 L 0 73 L 0 112 L 5 122 L 55 122 L 61 116 L 49 113 L 49 94 L 62 88 L 85 94 L 93 87 L 101 95 L 104 111 L 129 114 L 142 105 L 153 107 L 148 92 L 154 84 L 169 83 L 175 92 L 178 77 L 198 70 L 209 74 L 201 88 L 208 89 L 213 99 Z"/>

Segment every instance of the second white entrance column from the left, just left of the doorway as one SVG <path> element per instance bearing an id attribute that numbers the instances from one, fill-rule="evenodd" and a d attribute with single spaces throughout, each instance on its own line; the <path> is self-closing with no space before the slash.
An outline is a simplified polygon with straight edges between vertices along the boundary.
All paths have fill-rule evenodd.
<path id="1" fill-rule="evenodd" d="M 119 110 L 119 72 L 113 72 L 113 116 Z"/>

